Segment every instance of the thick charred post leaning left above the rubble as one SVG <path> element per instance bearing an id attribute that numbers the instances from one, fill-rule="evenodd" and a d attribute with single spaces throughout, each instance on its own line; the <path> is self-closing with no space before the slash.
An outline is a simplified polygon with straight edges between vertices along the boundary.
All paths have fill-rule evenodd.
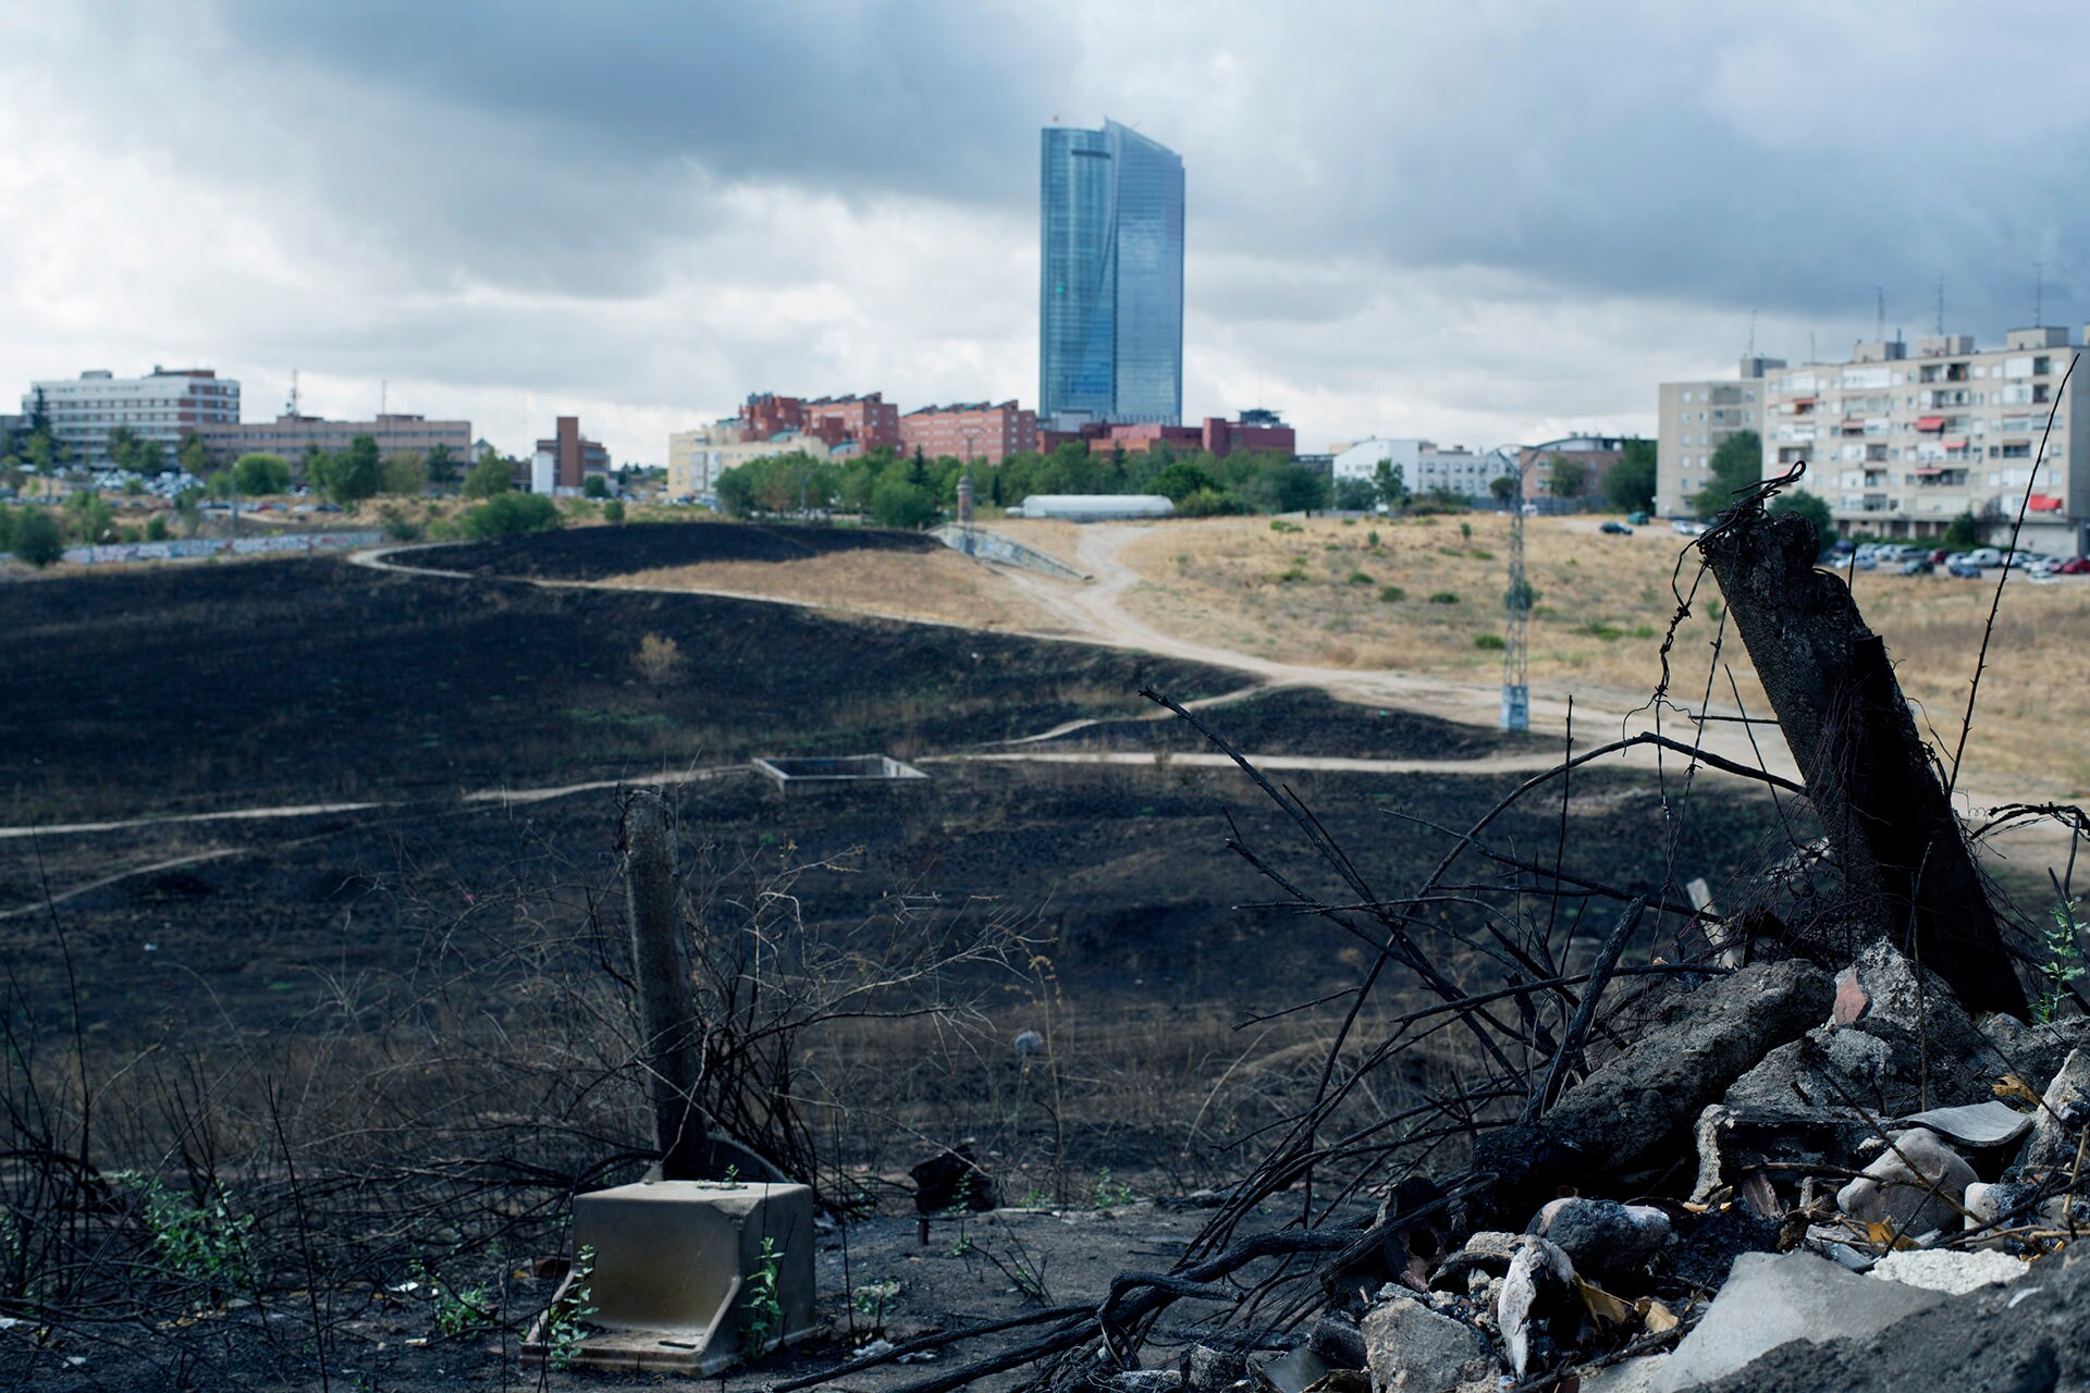
<path id="1" fill-rule="evenodd" d="M 1973 850 L 1850 587 L 1814 570 L 1797 514 L 1751 501 L 1699 543 L 1799 764 L 1864 927 L 1969 1011 L 2025 1015 Z"/>

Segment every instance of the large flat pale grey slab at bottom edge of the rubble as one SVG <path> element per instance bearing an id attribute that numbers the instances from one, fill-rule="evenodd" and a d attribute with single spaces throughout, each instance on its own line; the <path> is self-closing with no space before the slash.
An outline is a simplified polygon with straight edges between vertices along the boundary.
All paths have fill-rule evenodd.
<path id="1" fill-rule="evenodd" d="M 1649 1393 L 1695 1389 L 1787 1341 L 1818 1345 L 1866 1337 L 1944 1299 L 1944 1293 L 1845 1272 L 1814 1253 L 1743 1253 L 1676 1351 L 1643 1364 L 1647 1383 L 1641 1387 Z"/>

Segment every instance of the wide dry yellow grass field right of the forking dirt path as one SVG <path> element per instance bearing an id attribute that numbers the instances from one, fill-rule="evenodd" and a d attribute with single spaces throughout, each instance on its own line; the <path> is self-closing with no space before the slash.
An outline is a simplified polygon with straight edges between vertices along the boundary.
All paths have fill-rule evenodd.
<path id="1" fill-rule="evenodd" d="M 1118 553 L 1150 583 L 1124 604 L 1185 639 L 1281 662 L 1494 681 L 1501 654 L 1476 647 L 1476 639 L 1503 629 L 1507 518 L 1310 518 L 1298 526 L 1271 530 L 1267 518 L 1150 526 Z M 1657 650 L 1674 608 L 1670 572 L 1689 541 L 1662 526 L 1632 537 L 1595 528 L 1590 518 L 1536 518 L 1526 526 L 1526 564 L 1538 587 L 1530 677 L 1630 704 L 1662 677 Z M 1041 537 L 1024 541 L 1051 549 Z M 1685 564 L 1687 589 L 1695 562 L 1693 553 Z M 1958 739 L 1994 574 L 1983 585 L 1858 574 L 1858 606 L 1887 637 L 1925 733 L 1946 756 Z M 1384 587 L 1400 595 L 1381 597 Z M 1432 604 L 1432 595 L 1459 599 Z M 1693 618 L 1676 635 L 1674 693 L 1693 706 L 1705 691 L 1716 601 L 1708 574 Z M 1741 700 L 1768 714 L 1747 654 L 1728 641 L 1724 656 Z M 2090 789 L 2090 746 L 2077 737 L 2090 729 L 2090 585 L 2013 579 L 1990 664 L 1963 783 L 2082 796 Z M 1733 695 L 1720 675 L 1714 702 L 1733 704 Z"/>

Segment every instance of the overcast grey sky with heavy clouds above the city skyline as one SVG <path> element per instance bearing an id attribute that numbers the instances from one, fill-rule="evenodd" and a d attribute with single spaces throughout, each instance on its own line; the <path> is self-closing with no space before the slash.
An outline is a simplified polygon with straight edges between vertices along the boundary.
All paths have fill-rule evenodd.
<path id="1" fill-rule="evenodd" d="M 1187 418 L 1653 430 L 1749 343 L 2082 332 L 2077 4 L 0 0 L 0 401 L 1037 399 L 1039 127 L 1183 155 Z"/>

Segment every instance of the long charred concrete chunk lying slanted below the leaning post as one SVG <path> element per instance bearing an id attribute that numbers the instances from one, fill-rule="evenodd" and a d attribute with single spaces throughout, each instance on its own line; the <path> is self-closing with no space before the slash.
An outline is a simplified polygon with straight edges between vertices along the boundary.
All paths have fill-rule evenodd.
<path id="1" fill-rule="evenodd" d="M 1503 1176 L 1509 1193 L 1540 1178 L 1553 1190 L 1662 1165 L 1689 1144 L 1708 1103 L 1770 1048 L 1818 1023 L 1833 996 L 1829 973 L 1797 959 L 1710 982 L 1630 1050 L 1568 1088 L 1534 1128 L 1482 1134 L 1473 1163 Z"/>

